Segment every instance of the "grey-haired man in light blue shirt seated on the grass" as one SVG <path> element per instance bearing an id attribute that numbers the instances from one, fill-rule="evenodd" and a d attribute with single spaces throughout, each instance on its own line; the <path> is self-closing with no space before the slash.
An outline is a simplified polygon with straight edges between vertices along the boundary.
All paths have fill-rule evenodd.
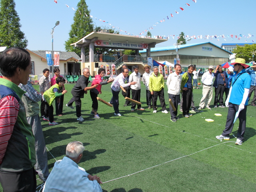
<path id="1" fill-rule="evenodd" d="M 55 162 L 44 192 L 102 192 L 100 178 L 88 174 L 78 166 L 83 151 L 84 145 L 79 141 L 67 145 L 66 157 Z"/>

